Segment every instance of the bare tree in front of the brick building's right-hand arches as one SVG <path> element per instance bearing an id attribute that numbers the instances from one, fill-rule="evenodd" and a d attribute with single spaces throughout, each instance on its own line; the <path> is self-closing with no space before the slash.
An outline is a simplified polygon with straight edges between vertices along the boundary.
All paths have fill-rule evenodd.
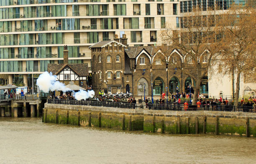
<path id="1" fill-rule="evenodd" d="M 194 8 L 191 13 L 181 17 L 181 28 L 166 28 L 161 34 L 164 47 L 177 48 L 184 56 L 184 62 L 178 69 L 195 81 L 193 103 L 196 104 L 200 85 L 207 76 L 212 62 L 220 54 L 222 38 L 216 26 L 219 16 L 215 10 L 202 11 Z M 169 49 L 172 49 L 169 48 Z"/>

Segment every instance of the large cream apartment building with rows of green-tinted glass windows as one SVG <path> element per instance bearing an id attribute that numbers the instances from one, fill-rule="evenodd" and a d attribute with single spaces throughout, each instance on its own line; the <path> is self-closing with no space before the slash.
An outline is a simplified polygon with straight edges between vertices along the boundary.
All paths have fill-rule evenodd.
<path id="1" fill-rule="evenodd" d="M 0 84 L 29 86 L 48 63 L 91 63 L 90 45 L 126 34 L 129 46 L 154 45 L 179 28 L 179 0 L 1 0 Z M 90 70 L 90 68 L 89 68 Z"/>

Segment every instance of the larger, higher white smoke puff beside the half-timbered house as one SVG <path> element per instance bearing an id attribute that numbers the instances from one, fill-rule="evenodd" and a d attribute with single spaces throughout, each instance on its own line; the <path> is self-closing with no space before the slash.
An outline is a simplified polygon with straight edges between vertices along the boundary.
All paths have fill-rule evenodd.
<path id="1" fill-rule="evenodd" d="M 42 73 L 36 80 L 36 85 L 44 93 L 49 93 L 49 91 L 71 91 L 70 88 L 67 88 L 64 83 L 56 81 L 57 77 L 48 73 L 47 71 Z"/>

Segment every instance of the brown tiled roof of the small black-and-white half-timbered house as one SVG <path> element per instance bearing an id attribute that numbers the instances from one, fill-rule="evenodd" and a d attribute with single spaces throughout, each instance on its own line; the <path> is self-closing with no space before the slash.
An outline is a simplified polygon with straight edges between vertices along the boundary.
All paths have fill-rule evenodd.
<path id="1" fill-rule="evenodd" d="M 58 74 L 66 66 L 71 68 L 78 76 L 88 76 L 89 69 L 87 63 L 78 63 L 78 64 L 48 64 L 47 71 L 52 72 L 53 75 Z"/>

